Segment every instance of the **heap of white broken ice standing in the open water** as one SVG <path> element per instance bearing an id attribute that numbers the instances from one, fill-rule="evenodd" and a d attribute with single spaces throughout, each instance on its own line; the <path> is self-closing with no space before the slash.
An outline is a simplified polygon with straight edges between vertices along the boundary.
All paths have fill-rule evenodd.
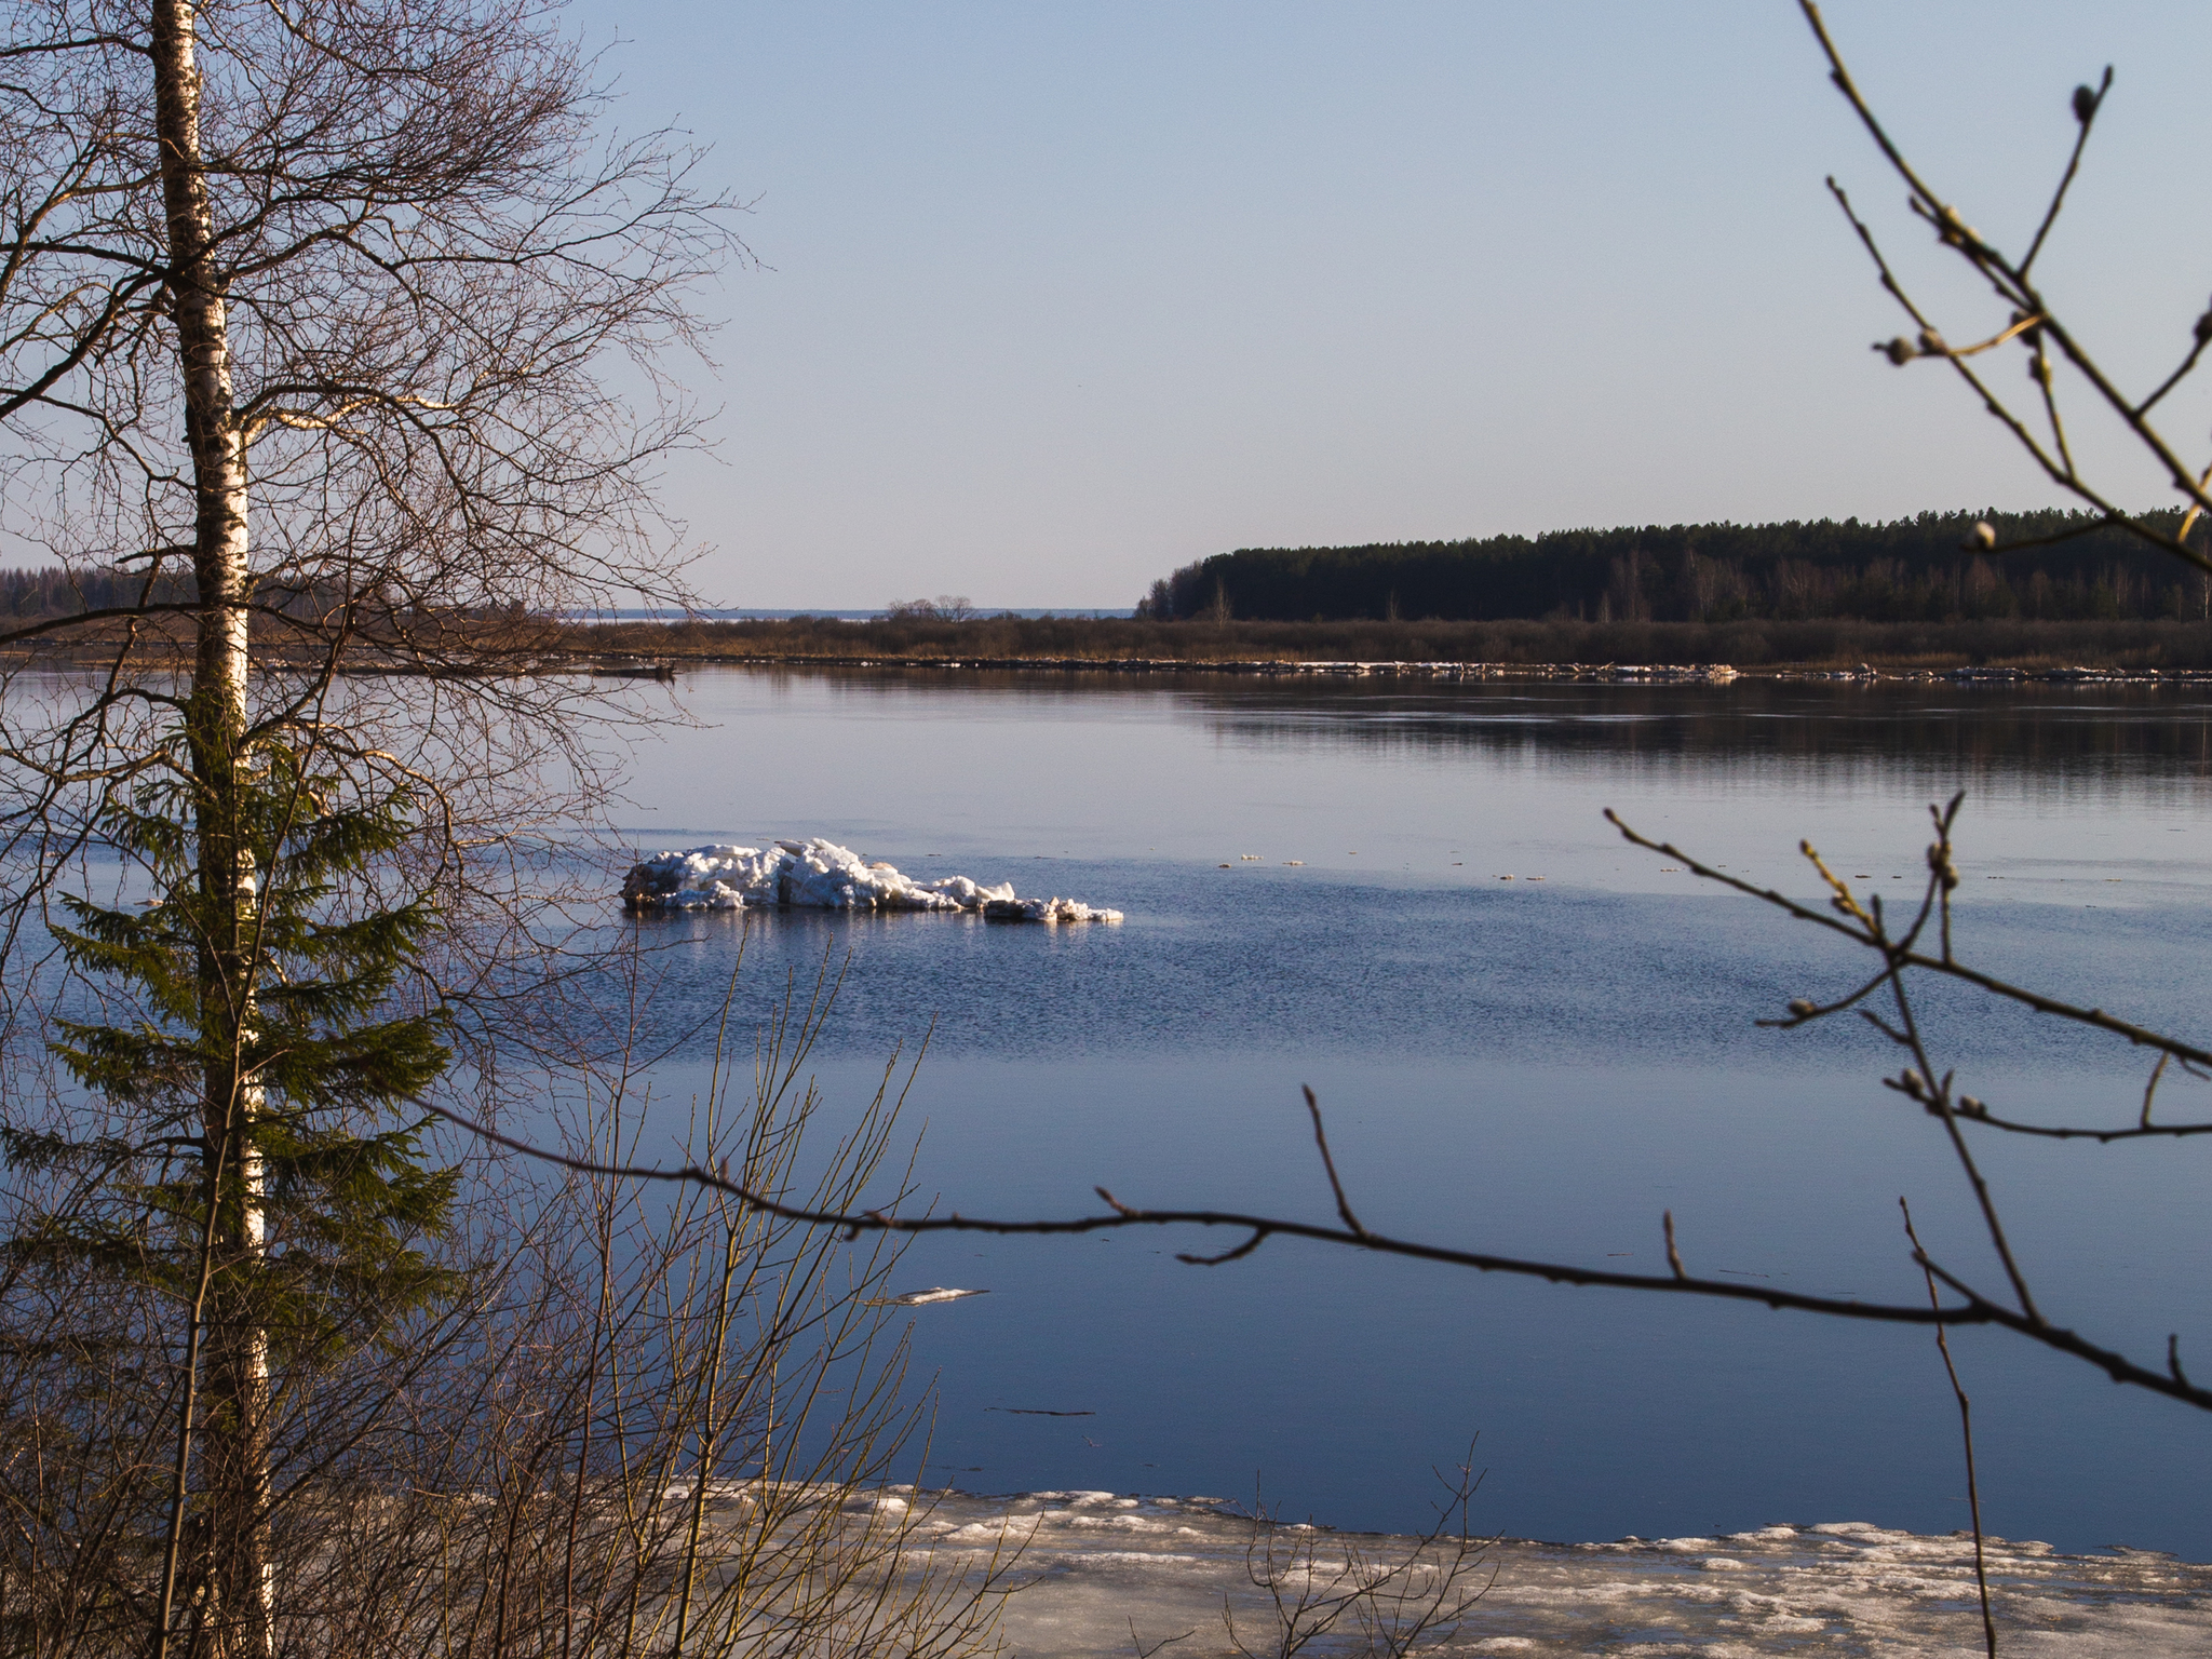
<path id="1" fill-rule="evenodd" d="M 967 876 L 920 883 L 852 847 L 814 836 L 768 847 L 690 847 L 630 867 L 622 902 L 633 911 L 743 909 L 938 909 L 991 922 L 1119 922 L 1121 911 L 1073 898 L 1015 898 L 1013 883 L 982 887 Z"/>

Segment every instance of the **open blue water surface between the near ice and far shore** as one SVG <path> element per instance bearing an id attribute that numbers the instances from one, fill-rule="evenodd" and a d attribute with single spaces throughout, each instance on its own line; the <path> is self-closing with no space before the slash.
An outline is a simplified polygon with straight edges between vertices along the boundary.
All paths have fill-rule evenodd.
<path id="1" fill-rule="evenodd" d="M 1916 891 L 1927 803 L 1966 790 L 1962 949 L 2203 1040 L 2212 703 L 2132 688 L 1274 686 L 701 672 L 633 759 L 644 852 L 823 834 L 914 874 L 1124 909 L 1115 929 L 931 916 L 641 922 L 677 1011 L 741 1013 L 849 953 L 821 1048 L 858 1108 L 931 1026 L 920 1183 L 975 1214 L 1139 1203 L 1329 1217 L 1298 1086 L 1369 1225 L 1467 1248 L 1816 1292 L 1995 1287 L 1955 1166 L 1843 1022 L 1754 1018 L 1843 989 L 1847 951 L 1697 887 L 1639 827 L 1798 894 L 1809 836 Z M 1256 860 L 1245 860 L 1256 854 Z M 1287 860 L 1301 860 L 1290 865 Z M 1221 865 L 1228 865 L 1223 869 Z M 1502 880 L 1513 876 L 1515 880 Z M 1544 880 L 1533 880 L 1542 876 Z M 2112 1044 L 1938 989 L 1940 1064 L 2020 1113 L 2126 1119 Z M 661 1066 L 684 1097 L 699 1055 Z M 2212 1110 L 2194 1086 L 2170 1115 Z M 2059 1323 L 2212 1374 L 2212 1146 L 1993 1141 Z M 1217 1270 L 1119 1234 L 938 1239 L 900 1287 L 940 1409 L 931 1475 L 973 1491 L 1250 1495 L 1340 1526 L 1425 1520 L 1480 1431 L 1482 1520 L 1535 1537 L 1966 1522 L 1927 1332 L 1559 1290 L 1270 1243 Z M 1953 1338 L 1989 1526 L 2212 1557 L 2212 1420 L 2020 1340 Z M 1086 1411 L 1093 1416 L 1020 1416 Z"/>

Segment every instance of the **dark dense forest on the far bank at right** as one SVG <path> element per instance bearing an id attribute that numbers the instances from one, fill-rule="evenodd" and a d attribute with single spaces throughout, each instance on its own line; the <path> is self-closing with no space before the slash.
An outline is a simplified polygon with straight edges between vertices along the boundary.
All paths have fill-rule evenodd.
<path id="1" fill-rule="evenodd" d="M 1975 520 L 2017 553 L 1964 551 Z M 2179 529 L 2179 513 L 2146 513 Z M 1650 524 L 1217 553 L 1152 584 L 1157 622 L 1989 622 L 2208 619 L 2212 580 L 2090 513 L 1920 513 Z"/>

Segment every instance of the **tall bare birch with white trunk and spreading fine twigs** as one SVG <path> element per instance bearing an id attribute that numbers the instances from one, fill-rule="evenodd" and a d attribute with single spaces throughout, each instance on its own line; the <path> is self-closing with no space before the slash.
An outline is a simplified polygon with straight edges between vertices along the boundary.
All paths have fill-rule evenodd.
<path id="1" fill-rule="evenodd" d="M 9 1035 L 20 1060 L 51 1011 L 64 872 L 170 790 L 186 1141 L 206 1259 L 250 1259 L 270 779 L 323 779 L 332 821 L 427 803 L 409 883 L 449 914 L 495 896 L 531 761 L 591 772 L 575 681 L 513 672 L 526 617 L 681 597 L 653 473 L 697 411 L 666 363 L 743 248 L 672 133 L 604 137 L 599 64 L 538 0 L 27 0 L 0 29 L 0 531 L 137 577 L 133 604 L 0 633 Z M 484 991 L 498 949 L 473 971 Z M 268 1655 L 265 1332 L 215 1343 L 204 1394 L 192 1593 L 228 1606 L 221 1650 Z"/>

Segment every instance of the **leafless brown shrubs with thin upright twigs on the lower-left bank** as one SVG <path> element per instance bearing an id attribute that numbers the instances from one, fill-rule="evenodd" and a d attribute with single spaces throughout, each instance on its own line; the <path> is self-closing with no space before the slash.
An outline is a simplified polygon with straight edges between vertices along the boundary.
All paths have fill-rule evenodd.
<path id="1" fill-rule="evenodd" d="M 898 1079 L 834 1139 L 803 1075 L 827 998 L 750 1064 L 717 1060 L 690 1150 L 761 1190 L 841 1206 L 900 1186 Z M 546 1113 L 580 1152 L 635 1148 L 622 1071 Z M 131 1221 L 161 1148 L 77 1124 L 97 1168 L 18 1168 L 0 1343 L 0 1650 L 144 1652 L 159 1606 L 177 1402 L 168 1298 L 58 1272 L 35 1241 Z M 922 1407 L 885 1325 L 898 1252 L 849 1250 L 726 1194 L 476 1159 L 438 1259 L 449 1303 L 276 1371 L 270 1652 L 849 1655 L 989 1646 L 1013 1557 L 945 1568 L 914 1544 Z M 905 1493 L 905 1495 L 900 1495 Z M 186 1553 L 206 1548 L 208 1511 Z M 250 1632 L 210 1597 L 179 1652 Z"/>

